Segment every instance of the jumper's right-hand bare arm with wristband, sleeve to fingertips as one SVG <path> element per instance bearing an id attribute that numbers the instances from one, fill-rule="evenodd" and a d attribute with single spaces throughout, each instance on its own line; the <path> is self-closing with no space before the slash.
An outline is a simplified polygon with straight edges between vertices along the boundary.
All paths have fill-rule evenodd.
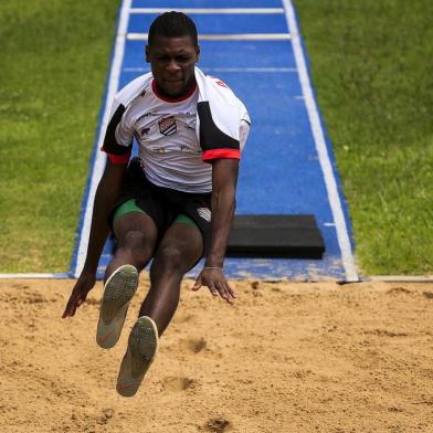
<path id="1" fill-rule="evenodd" d="M 208 286 L 213 296 L 233 302 L 234 292 L 222 272 L 230 229 L 235 209 L 239 172 L 237 159 L 215 159 L 212 162 L 212 237 L 204 268 L 193 289 Z"/>

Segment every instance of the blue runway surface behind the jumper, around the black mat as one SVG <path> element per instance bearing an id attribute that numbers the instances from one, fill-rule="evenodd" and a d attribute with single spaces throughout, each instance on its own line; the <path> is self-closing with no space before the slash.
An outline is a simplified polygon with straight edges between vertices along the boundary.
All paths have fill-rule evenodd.
<path id="1" fill-rule="evenodd" d="M 283 8 L 279 0 L 145 1 L 133 8 Z M 128 32 L 147 33 L 155 14 L 130 14 Z M 191 14 L 202 34 L 289 33 L 285 14 Z M 126 41 L 119 88 L 148 71 L 142 41 Z M 245 103 L 252 129 L 241 162 L 239 214 L 315 214 L 323 260 L 228 258 L 230 277 L 346 279 L 341 251 L 291 41 L 201 41 L 199 67 L 219 76 Z M 334 178 L 338 175 L 329 141 Z M 340 190 L 340 189 L 339 189 Z M 340 191 L 339 191 L 340 192 Z M 340 194 L 344 203 L 344 198 Z M 347 209 L 346 224 L 350 228 Z M 110 258 L 107 244 L 101 273 Z M 190 275 L 197 275 L 194 270 Z"/>

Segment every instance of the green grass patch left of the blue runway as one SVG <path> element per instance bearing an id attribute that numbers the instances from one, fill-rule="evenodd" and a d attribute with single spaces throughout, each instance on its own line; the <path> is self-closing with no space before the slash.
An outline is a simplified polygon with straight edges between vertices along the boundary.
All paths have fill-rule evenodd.
<path id="1" fill-rule="evenodd" d="M 68 268 L 116 3 L 0 4 L 0 272 Z"/>

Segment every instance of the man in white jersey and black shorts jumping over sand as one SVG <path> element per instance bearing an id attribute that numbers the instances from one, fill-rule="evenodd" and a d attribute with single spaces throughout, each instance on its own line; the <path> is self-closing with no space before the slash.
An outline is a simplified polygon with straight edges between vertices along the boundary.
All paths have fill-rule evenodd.
<path id="1" fill-rule="evenodd" d="M 241 150 L 250 117 L 220 80 L 197 66 L 200 47 L 193 21 L 166 12 L 150 25 L 145 74 L 115 97 L 103 150 L 87 256 L 63 317 L 73 317 L 96 282 L 112 230 L 117 250 L 105 274 L 97 344 L 118 340 L 139 272 L 150 266 L 150 288 L 128 339 L 117 391 L 134 395 L 152 362 L 158 341 L 179 303 L 183 275 L 204 256 L 194 286 L 233 303 L 223 273 L 235 208 Z M 130 159 L 133 141 L 138 157 Z"/>

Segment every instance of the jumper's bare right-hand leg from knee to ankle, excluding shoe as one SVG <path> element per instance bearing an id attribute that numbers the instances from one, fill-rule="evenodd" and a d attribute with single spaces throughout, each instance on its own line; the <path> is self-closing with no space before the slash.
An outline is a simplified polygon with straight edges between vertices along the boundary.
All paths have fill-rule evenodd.
<path id="1" fill-rule="evenodd" d="M 139 316 L 148 316 L 162 335 L 179 303 L 183 275 L 199 261 L 203 237 L 192 224 L 175 222 L 166 232 L 150 267 L 150 289 Z"/>

